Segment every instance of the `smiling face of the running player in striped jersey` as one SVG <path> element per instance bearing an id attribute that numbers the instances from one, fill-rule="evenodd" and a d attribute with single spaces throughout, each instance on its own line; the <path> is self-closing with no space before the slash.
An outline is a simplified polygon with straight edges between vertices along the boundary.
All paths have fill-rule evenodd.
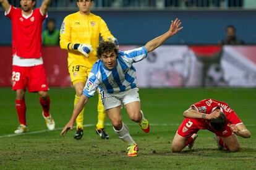
<path id="1" fill-rule="evenodd" d="M 113 51 L 101 54 L 100 59 L 107 69 L 112 70 L 116 66 L 116 57 L 116 53 Z"/>

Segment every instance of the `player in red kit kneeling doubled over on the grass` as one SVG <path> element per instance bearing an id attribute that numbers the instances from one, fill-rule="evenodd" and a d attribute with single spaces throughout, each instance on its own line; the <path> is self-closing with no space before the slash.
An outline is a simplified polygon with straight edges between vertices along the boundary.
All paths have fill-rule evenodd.
<path id="1" fill-rule="evenodd" d="M 227 103 L 205 99 L 184 111 L 184 121 L 174 136 L 171 150 L 179 152 L 184 147 L 192 148 L 197 132 L 207 129 L 216 134 L 219 149 L 239 151 L 237 135 L 249 138 L 250 131 Z"/>

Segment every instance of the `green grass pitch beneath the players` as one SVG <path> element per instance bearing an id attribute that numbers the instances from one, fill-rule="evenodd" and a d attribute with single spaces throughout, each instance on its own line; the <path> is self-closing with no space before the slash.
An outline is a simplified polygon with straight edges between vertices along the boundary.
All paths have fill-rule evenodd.
<path id="1" fill-rule="evenodd" d="M 52 132 L 46 130 L 38 95 L 26 93 L 29 132 L 12 135 L 19 125 L 15 92 L 0 88 L 0 169 L 256 169 L 255 88 L 140 89 L 139 93 L 151 131 L 143 133 L 122 109 L 122 119 L 139 145 L 139 155 L 128 158 L 127 145 L 114 134 L 108 118 L 106 130 L 110 139 L 101 140 L 95 134 L 96 96 L 85 108 L 85 134 L 82 140 L 76 141 L 75 130 L 65 137 L 59 135 L 72 113 L 74 89 L 49 90 L 51 114 L 56 122 L 56 130 Z M 182 112 L 205 98 L 228 103 L 252 133 L 251 138 L 238 137 L 240 152 L 217 150 L 214 134 L 207 130 L 199 131 L 192 150 L 171 152 L 171 141 L 183 119 Z"/>

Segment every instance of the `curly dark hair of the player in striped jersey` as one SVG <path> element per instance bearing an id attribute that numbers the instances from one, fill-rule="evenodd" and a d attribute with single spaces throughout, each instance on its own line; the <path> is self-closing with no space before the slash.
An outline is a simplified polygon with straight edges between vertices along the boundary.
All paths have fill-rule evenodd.
<path id="1" fill-rule="evenodd" d="M 111 43 L 110 41 L 100 41 L 100 44 L 96 49 L 96 52 L 97 57 L 100 59 L 103 53 L 114 52 L 117 55 L 118 48 L 116 45 L 114 45 L 114 43 Z"/>

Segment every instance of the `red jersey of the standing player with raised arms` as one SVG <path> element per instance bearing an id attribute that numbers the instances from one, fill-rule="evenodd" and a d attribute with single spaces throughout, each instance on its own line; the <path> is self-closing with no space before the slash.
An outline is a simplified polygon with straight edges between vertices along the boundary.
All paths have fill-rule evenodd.
<path id="1" fill-rule="evenodd" d="M 6 16 L 12 22 L 12 54 L 23 58 L 41 57 L 41 29 L 46 15 L 37 8 L 26 16 L 21 9 L 11 6 Z"/>

